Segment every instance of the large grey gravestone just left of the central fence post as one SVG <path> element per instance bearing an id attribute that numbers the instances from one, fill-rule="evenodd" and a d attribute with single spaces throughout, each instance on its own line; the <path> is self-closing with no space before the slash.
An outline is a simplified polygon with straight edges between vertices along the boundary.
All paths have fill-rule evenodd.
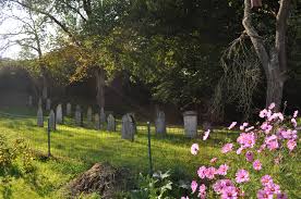
<path id="1" fill-rule="evenodd" d="M 136 132 L 135 121 L 132 114 L 128 113 L 122 116 L 121 138 L 134 141 Z"/>

